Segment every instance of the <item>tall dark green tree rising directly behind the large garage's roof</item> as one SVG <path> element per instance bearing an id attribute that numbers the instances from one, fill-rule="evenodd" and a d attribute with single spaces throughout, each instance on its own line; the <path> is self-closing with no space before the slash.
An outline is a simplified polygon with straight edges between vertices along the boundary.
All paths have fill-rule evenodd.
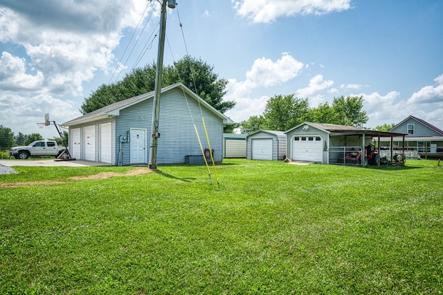
<path id="1" fill-rule="evenodd" d="M 227 79 L 219 78 L 214 73 L 214 67 L 201 59 L 185 56 L 176 61 L 174 66 L 163 67 L 162 86 L 182 82 L 204 99 L 208 104 L 224 113 L 235 106 L 233 101 L 223 101 Z M 122 81 L 113 84 L 102 84 L 89 97 L 84 99 L 80 111 L 83 114 L 95 111 L 98 108 L 154 91 L 156 64 L 147 64 L 143 68 L 136 68 L 125 75 Z"/>

